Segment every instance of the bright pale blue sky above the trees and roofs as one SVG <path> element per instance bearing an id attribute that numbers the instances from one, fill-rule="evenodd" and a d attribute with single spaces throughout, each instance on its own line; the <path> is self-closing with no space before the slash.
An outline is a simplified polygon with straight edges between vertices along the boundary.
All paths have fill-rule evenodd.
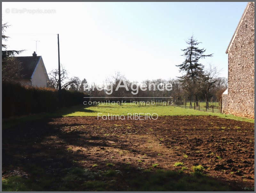
<path id="1" fill-rule="evenodd" d="M 50 72 L 60 61 L 71 75 L 101 83 L 120 71 L 130 81 L 175 78 L 180 49 L 192 34 L 212 58 L 202 61 L 228 76 L 228 43 L 246 2 L 211 3 L 14 3 L 3 2 L 3 22 L 10 26 L 8 49 L 26 49 L 32 55 L 38 42 Z M 6 13 L 6 9 L 53 9 L 54 13 Z"/>

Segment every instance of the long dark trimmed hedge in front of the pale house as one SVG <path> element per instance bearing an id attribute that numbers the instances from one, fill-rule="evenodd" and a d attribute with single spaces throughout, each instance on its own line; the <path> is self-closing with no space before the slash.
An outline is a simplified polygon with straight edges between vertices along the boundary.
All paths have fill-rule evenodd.
<path id="1" fill-rule="evenodd" d="M 24 87 L 19 83 L 2 82 L 3 118 L 39 112 L 53 112 L 58 107 L 83 104 L 88 97 L 82 92 L 62 90 L 59 103 L 58 91 L 52 88 Z"/>

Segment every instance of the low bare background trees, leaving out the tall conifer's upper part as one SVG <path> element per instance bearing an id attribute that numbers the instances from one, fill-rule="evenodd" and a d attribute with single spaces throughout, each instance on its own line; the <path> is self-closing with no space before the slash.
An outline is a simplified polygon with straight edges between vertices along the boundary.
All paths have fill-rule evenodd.
<path id="1" fill-rule="evenodd" d="M 214 71 L 214 69 L 212 71 Z M 120 80 L 125 82 L 129 91 L 127 91 L 125 88 L 119 88 L 116 91 L 117 85 L 120 82 Z M 227 78 L 212 77 L 212 79 L 208 80 L 208 82 L 205 82 L 204 84 L 201 84 L 201 85 L 199 82 L 197 82 L 198 85 L 196 86 L 198 87 L 194 87 L 194 89 L 192 89 L 191 87 L 191 90 L 189 90 L 188 92 L 187 87 L 184 87 L 184 83 L 181 82 L 179 78 L 172 78 L 169 80 L 164 80 L 164 79 L 145 80 L 141 82 L 147 85 L 145 90 L 144 88 L 141 89 L 140 86 L 138 86 L 137 87 L 138 93 L 134 95 L 131 93 L 132 89 L 135 90 L 134 87 L 132 88 L 132 84 L 138 83 L 138 82 L 130 82 L 123 75 L 117 72 L 114 76 L 111 77 L 111 81 L 107 81 L 106 83 L 104 83 L 104 85 L 98 85 L 98 88 L 100 88 L 101 90 L 93 89 L 93 87 L 95 87 L 95 84 L 92 83 L 90 87 L 88 87 L 88 89 L 86 90 L 86 93 L 90 95 L 91 100 L 94 100 L 93 97 L 102 97 L 101 99 L 99 98 L 95 99 L 97 101 L 104 101 L 106 99 L 110 101 L 119 101 L 119 100 L 167 101 L 167 100 L 170 100 L 169 99 L 170 97 L 172 97 L 172 100 L 177 104 L 178 104 L 178 101 L 181 101 L 181 100 L 191 102 L 192 100 L 198 101 L 201 99 L 203 101 L 208 101 L 212 97 L 214 98 L 214 101 L 220 101 L 222 92 L 225 89 L 227 89 L 227 86 L 228 86 Z M 153 85 L 158 85 L 158 84 L 160 84 L 161 86 L 159 87 L 159 89 L 155 87 L 156 89 L 154 90 Z M 172 89 L 171 90 L 163 89 L 165 88 L 166 84 L 171 85 Z M 109 90 L 110 87 L 113 88 L 113 92 L 112 94 L 107 94 L 106 92 L 107 90 Z M 125 99 L 126 97 L 130 97 L 130 98 Z"/>

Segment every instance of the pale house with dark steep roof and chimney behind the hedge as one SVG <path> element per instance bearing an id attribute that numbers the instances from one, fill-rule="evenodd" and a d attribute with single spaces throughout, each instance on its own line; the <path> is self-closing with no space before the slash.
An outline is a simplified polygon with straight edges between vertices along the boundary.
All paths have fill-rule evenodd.
<path id="1" fill-rule="evenodd" d="M 20 81 L 23 85 L 30 85 L 35 87 L 47 87 L 49 77 L 44 66 L 42 56 L 37 56 L 36 52 L 33 56 L 20 56 L 15 57 L 21 62 L 22 80 Z"/>

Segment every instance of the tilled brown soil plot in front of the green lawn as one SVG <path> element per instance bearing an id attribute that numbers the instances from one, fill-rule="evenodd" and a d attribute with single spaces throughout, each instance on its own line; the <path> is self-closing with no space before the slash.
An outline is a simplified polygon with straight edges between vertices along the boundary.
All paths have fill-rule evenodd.
<path id="1" fill-rule="evenodd" d="M 51 160 L 56 155 L 59 159 Z M 49 164 L 49 174 L 59 164 L 95 171 L 106 169 L 107 163 L 114 164 L 116 170 L 122 170 L 124 164 L 138 169 L 158 164 L 156 168 L 180 170 L 174 163 L 183 162 L 188 168 L 185 173 L 202 165 L 205 174 L 230 187 L 252 188 L 254 124 L 212 116 L 165 116 L 157 120 L 62 117 L 3 130 L 3 177 L 12 175 L 10 165 L 22 170 L 25 161 L 39 160 Z"/>

